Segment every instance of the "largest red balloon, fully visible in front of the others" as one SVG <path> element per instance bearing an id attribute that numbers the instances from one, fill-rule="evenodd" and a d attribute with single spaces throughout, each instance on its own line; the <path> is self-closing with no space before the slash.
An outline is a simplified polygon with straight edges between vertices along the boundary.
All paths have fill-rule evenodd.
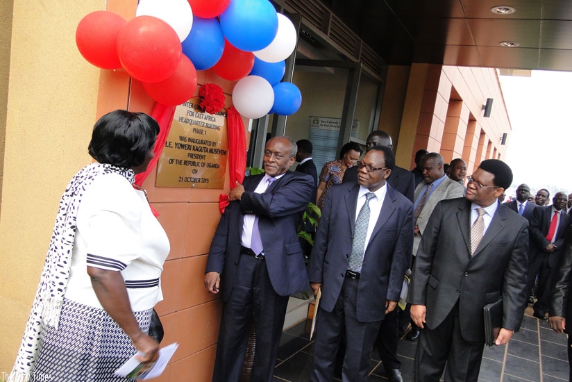
<path id="1" fill-rule="evenodd" d="M 163 81 L 177 69 L 181 47 L 169 24 L 153 16 L 127 22 L 117 37 L 117 53 L 126 72 L 142 82 Z"/>

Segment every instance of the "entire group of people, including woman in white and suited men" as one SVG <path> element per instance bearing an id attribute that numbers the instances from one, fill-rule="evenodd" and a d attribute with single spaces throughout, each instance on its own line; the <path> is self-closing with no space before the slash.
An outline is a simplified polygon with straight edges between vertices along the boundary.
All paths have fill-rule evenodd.
<path id="1" fill-rule="evenodd" d="M 142 362 L 157 359 L 149 326 L 169 240 L 132 184 L 153 158 L 158 131 L 148 115 L 126 110 L 96 122 L 95 162 L 60 202 L 10 381 L 132 381 L 113 372 L 136 351 Z M 395 164 L 384 131 L 369 134 L 360 156 L 360 145 L 348 143 L 318 176 L 309 140 L 274 137 L 264 173 L 230 190 L 204 279 L 223 304 L 213 381 L 241 379 L 251 322 L 251 381 L 271 381 L 289 295 L 308 288 L 321 296 L 314 382 L 337 374 L 367 381 L 374 347 L 389 381 L 403 381 L 396 351 L 405 333 L 417 341 L 414 381 L 443 373 L 446 381 L 477 381 L 482 309 L 500 299 L 496 345 L 519 331 L 529 303 L 535 317 L 569 332 L 572 194 L 557 192 L 548 204 L 548 190 L 532 197 L 521 184 L 503 203 L 513 176 L 502 161 L 483 160 L 468 175 L 461 158 L 447 165 L 420 150 L 409 171 Z M 297 231 L 310 201 L 321 217 L 317 229 L 303 226 L 315 234 L 308 259 Z"/>

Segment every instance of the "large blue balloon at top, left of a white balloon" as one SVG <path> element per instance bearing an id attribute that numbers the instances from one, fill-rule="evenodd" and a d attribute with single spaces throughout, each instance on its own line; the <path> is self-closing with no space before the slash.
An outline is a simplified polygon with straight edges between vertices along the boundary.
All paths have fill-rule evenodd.
<path id="1" fill-rule="evenodd" d="M 266 48 L 278 32 L 278 15 L 268 0 L 230 0 L 220 20 L 226 40 L 242 51 Z"/>

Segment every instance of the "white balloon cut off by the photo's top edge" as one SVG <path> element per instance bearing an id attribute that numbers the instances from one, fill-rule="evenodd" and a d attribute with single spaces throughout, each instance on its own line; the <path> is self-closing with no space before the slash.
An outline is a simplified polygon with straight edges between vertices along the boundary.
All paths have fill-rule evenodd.
<path id="1" fill-rule="evenodd" d="M 135 16 L 162 19 L 175 30 L 180 41 L 187 38 L 193 25 L 193 12 L 187 0 L 140 0 Z"/>

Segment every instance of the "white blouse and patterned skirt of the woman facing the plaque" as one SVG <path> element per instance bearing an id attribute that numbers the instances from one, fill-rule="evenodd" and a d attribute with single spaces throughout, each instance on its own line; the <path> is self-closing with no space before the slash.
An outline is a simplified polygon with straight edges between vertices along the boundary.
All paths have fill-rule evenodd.
<path id="1" fill-rule="evenodd" d="M 87 188 L 78 208 L 69 281 L 58 329 L 42 326 L 32 381 L 128 381 L 113 372 L 136 352 L 103 310 L 87 266 L 121 272 L 142 331 L 162 300 L 160 274 L 169 240 L 143 192 L 119 174 Z"/>

